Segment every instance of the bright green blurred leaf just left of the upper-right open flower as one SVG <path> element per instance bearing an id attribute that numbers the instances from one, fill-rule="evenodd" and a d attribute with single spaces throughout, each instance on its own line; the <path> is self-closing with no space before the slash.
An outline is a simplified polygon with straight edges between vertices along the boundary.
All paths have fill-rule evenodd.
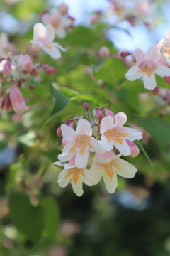
<path id="1" fill-rule="evenodd" d="M 93 64 L 92 68 L 95 78 L 103 80 L 108 85 L 118 85 L 128 71 L 123 60 L 118 58 L 108 58 L 103 65 L 97 67 Z"/>

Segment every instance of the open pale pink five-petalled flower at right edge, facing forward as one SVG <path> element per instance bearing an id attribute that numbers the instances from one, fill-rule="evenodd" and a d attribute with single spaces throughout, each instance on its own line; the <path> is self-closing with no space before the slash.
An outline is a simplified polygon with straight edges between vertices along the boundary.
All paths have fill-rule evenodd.
<path id="1" fill-rule="evenodd" d="M 156 47 L 151 47 L 145 54 L 142 50 L 136 49 L 133 53 L 136 58 L 137 65 L 130 68 L 126 73 L 126 78 L 130 81 L 134 81 L 138 78 L 142 78 L 144 86 L 148 90 L 154 90 L 157 87 L 155 75 L 162 77 L 170 75 L 170 69 L 166 65 L 159 64 L 161 55 Z"/>

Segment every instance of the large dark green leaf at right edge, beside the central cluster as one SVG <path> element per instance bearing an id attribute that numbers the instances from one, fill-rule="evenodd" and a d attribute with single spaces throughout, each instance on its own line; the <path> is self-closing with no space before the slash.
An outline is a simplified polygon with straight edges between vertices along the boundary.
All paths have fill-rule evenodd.
<path id="1" fill-rule="evenodd" d="M 135 116 L 135 118 L 140 122 L 142 127 L 154 137 L 157 144 L 159 144 L 162 154 L 165 154 L 166 147 L 169 144 L 170 124 L 158 118 L 143 118 L 137 116 Z"/>

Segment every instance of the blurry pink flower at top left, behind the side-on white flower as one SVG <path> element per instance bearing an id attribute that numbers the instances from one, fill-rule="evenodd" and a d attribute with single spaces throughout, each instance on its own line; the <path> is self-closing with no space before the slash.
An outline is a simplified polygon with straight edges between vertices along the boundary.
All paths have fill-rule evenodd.
<path id="1" fill-rule="evenodd" d="M 67 16 L 64 16 L 57 9 L 51 9 L 49 14 L 42 15 L 42 21 L 47 24 L 51 24 L 55 28 L 55 34 L 59 38 L 64 38 L 66 36 L 66 29 L 71 24 L 72 21 Z"/>

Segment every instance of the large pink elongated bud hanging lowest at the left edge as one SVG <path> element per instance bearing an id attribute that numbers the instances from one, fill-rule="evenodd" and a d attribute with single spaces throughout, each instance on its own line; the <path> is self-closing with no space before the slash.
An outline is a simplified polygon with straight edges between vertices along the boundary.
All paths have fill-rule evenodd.
<path id="1" fill-rule="evenodd" d="M 18 88 L 16 88 L 14 85 L 11 85 L 9 97 L 12 102 L 13 110 L 17 114 L 22 114 L 26 109 L 26 103 L 23 100 L 23 95 L 21 94 L 20 90 L 18 90 Z"/>

